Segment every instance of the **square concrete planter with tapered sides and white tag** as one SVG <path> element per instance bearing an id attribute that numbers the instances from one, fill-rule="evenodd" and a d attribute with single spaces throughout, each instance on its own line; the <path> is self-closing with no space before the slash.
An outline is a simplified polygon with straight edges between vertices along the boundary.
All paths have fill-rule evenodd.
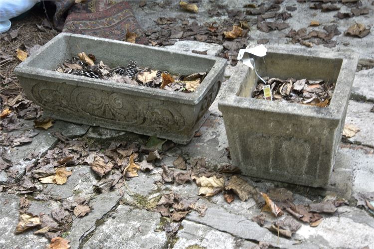
<path id="1" fill-rule="evenodd" d="M 276 51 L 276 52 L 275 52 Z M 358 57 L 270 48 L 255 60 L 260 76 L 336 82 L 326 108 L 251 98 L 254 71 L 239 62 L 218 102 L 233 164 L 243 174 L 326 187 L 335 163 Z"/>

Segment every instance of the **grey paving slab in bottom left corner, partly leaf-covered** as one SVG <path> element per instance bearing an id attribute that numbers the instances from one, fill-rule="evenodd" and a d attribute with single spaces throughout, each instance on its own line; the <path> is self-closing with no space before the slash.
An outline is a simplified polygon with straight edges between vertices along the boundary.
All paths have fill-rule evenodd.
<path id="1" fill-rule="evenodd" d="M 45 249 L 48 240 L 42 236 L 33 235 L 36 229 L 30 229 L 19 235 L 14 235 L 18 224 L 19 197 L 13 194 L 0 194 L 0 248 L 9 249 Z M 37 215 L 37 213 L 33 213 Z"/>

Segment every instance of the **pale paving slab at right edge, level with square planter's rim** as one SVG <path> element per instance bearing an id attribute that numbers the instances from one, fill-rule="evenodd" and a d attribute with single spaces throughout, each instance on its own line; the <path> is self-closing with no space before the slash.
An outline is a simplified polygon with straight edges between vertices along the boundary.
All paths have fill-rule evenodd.
<path id="1" fill-rule="evenodd" d="M 374 68 L 356 73 L 351 97 L 361 101 L 374 102 Z"/>

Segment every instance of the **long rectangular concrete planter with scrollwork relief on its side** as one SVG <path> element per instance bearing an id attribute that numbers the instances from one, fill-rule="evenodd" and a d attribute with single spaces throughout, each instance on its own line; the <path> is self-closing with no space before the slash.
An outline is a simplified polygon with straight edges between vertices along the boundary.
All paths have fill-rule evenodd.
<path id="1" fill-rule="evenodd" d="M 136 60 L 172 73 L 208 71 L 195 92 L 170 92 L 55 72 L 85 51 L 110 67 Z M 45 115 L 79 124 L 156 135 L 187 143 L 207 117 L 226 60 L 86 35 L 61 33 L 15 69 L 26 95 Z"/>

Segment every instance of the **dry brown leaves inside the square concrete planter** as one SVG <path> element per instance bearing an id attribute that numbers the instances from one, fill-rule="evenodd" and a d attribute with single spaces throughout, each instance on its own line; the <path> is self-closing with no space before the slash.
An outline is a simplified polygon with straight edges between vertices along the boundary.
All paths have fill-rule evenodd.
<path id="1" fill-rule="evenodd" d="M 328 84 L 324 80 L 296 80 L 293 78 L 282 80 L 267 77 L 264 79 L 266 84 L 260 80 L 257 82 L 256 89 L 252 93 L 253 98 L 264 99 L 264 85 L 269 85 L 274 101 L 327 107 L 335 88 L 335 83 Z"/>

